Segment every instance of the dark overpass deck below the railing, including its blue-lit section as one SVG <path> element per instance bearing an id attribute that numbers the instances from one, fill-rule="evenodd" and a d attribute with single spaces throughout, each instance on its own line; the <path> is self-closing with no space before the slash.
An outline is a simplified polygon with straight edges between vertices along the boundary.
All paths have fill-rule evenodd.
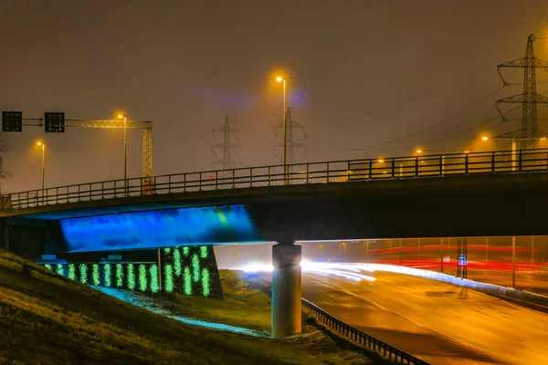
<path id="1" fill-rule="evenodd" d="M 5 224 L 36 225 L 33 229 L 57 252 L 261 241 L 548 235 L 547 186 L 545 173 L 277 186 L 83 202 L 59 205 L 53 212 L 35 208 L 5 218 Z M 188 207 L 202 208 L 181 209 Z M 135 227 L 146 226 L 139 223 L 142 213 L 135 212 L 144 211 L 156 211 L 153 215 L 160 218 L 154 228 L 149 226 L 148 238 L 139 241 L 142 230 Z M 112 212 L 125 214 L 72 219 Z M 125 222 L 125 228 L 110 234 L 100 231 L 100 222 L 104 228 L 108 219 Z M 87 229 L 97 247 L 84 242 L 74 249 L 78 240 L 67 242 L 68 223 L 73 228 L 79 224 L 80 231 Z M 28 229 L 23 231 L 29 234 Z M 19 241 L 28 242 L 28 237 L 14 237 L 10 246 L 23 244 Z M 122 241 L 134 245 L 124 246 Z"/>

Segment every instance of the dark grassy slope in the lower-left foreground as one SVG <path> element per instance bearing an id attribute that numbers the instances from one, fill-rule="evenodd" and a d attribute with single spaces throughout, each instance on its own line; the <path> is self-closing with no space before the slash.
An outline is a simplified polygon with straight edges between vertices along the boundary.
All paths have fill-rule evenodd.
<path id="1" fill-rule="evenodd" d="M 296 345 L 186 326 L 5 253 L 0 311 L 2 364 L 323 362 L 307 354 L 317 339 Z"/>

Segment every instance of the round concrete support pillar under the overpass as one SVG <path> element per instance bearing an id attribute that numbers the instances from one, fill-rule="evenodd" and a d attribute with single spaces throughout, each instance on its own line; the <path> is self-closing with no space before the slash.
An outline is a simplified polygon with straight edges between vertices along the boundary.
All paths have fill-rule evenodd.
<path id="1" fill-rule="evenodd" d="M 272 337 L 300 333 L 300 245 L 272 246 Z"/>

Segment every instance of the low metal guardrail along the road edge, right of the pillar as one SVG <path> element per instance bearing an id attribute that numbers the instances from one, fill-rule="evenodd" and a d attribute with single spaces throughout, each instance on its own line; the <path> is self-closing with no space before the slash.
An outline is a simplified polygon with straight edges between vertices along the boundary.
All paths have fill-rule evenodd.
<path id="1" fill-rule="evenodd" d="M 331 314 L 305 298 L 301 298 L 300 300 L 302 308 L 304 310 L 309 310 L 315 318 L 321 320 L 321 323 L 338 331 L 340 334 L 353 339 L 358 342 L 358 344 L 364 345 L 367 349 L 380 352 L 388 360 L 394 360 L 398 364 L 429 365 L 426 361 L 417 359 L 415 356 L 410 355 L 401 349 L 396 349 L 394 346 L 388 345 L 380 339 L 375 339 L 373 336 L 369 336 L 358 328 L 354 328 L 342 322 L 342 320 L 334 318 Z"/>

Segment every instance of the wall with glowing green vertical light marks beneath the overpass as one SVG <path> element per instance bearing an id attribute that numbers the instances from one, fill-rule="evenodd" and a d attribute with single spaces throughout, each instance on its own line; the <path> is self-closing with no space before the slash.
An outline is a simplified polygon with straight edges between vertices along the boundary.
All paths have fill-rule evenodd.
<path id="1" fill-rule="evenodd" d="M 160 250 L 157 263 L 45 264 L 49 270 L 97 287 L 143 293 L 179 293 L 223 297 L 213 246 L 177 246 Z"/>

